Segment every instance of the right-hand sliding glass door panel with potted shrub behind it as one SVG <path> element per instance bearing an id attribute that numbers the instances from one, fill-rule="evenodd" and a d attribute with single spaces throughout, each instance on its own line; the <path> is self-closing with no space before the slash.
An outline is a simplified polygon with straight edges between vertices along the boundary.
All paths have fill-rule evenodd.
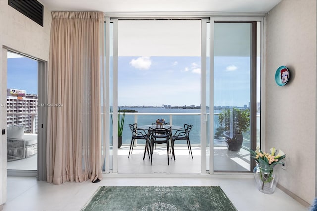
<path id="1" fill-rule="evenodd" d="M 256 83 L 260 33 L 256 21 L 211 19 L 211 25 L 213 171 L 250 172 L 253 165 L 248 149 L 256 144 L 260 104 Z"/>

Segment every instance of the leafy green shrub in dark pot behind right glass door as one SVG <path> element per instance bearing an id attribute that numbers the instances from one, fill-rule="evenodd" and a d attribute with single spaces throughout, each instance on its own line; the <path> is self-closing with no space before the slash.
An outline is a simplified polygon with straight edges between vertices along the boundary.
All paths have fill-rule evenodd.
<path id="1" fill-rule="evenodd" d="M 249 109 L 228 108 L 219 114 L 219 127 L 215 137 L 223 136 L 226 139 L 228 150 L 240 151 L 244 132 L 249 130 Z"/>

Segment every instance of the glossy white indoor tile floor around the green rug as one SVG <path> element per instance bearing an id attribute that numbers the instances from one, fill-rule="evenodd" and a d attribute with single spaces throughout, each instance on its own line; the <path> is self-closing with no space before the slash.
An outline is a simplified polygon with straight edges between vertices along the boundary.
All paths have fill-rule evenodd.
<path id="1" fill-rule="evenodd" d="M 239 211 L 307 211 L 308 208 L 277 189 L 272 195 L 258 191 L 253 178 L 186 178 L 105 175 L 99 183 L 67 182 L 61 185 L 36 181 L 35 177 L 8 177 L 3 211 L 80 211 L 93 193 L 104 186 L 200 186 L 219 185 Z M 122 202 L 124 203 L 124 202 Z"/>

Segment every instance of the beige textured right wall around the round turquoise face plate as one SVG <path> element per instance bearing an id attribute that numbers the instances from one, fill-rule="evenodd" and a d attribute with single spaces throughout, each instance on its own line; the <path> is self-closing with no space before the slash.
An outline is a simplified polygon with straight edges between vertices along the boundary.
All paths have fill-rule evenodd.
<path id="1" fill-rule="evenodd" d="M 279 184 L 302 200 L 315 197 L 316 1 L 283 0 L 267 15 L 265 146 L 286 153 Z M 287 66 L 285 86 L 275 82 Z"/>

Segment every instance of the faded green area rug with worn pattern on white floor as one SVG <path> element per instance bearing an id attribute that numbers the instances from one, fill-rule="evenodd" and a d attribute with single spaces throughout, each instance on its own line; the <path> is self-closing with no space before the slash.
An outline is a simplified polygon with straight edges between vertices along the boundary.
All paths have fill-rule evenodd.
<path id="1" fill-rule="evenodd" d="M 219 186 L 101 186 L 82 211 L 237 211 Z"/>

